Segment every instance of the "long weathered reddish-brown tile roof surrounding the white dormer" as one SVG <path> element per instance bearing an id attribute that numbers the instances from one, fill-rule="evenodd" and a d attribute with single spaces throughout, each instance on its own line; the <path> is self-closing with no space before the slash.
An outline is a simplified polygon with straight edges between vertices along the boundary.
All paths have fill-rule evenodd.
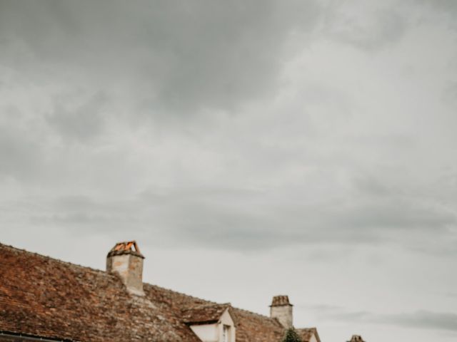
<path id="1" fill-rule="evenodd" d="M 284 333 L 276 319 L 230 304 L 151 284 L 144 284 L 145 296 L 132 296 L 114 274 L 4 244 L 0 279 L 0 332 L 67 341 L 199 342 L 188 323 L 211 321 L 229 308 L 236 342 L 278 342 Z"/>

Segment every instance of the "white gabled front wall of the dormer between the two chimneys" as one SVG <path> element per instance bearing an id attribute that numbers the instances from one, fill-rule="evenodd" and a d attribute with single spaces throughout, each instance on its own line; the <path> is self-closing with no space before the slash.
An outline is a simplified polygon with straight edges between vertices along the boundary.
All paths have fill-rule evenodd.
<path id="1" fill-rule="evenodd" d="M 228 342 L 236 342 L 235 323 L 229 314 L 229 309 L 224 311 L 219 321 L 211 324 L 195 324 L 191 326 L 192 331 L 202 342 L 225 342 L 224 326 L 228 327 Z"/>

